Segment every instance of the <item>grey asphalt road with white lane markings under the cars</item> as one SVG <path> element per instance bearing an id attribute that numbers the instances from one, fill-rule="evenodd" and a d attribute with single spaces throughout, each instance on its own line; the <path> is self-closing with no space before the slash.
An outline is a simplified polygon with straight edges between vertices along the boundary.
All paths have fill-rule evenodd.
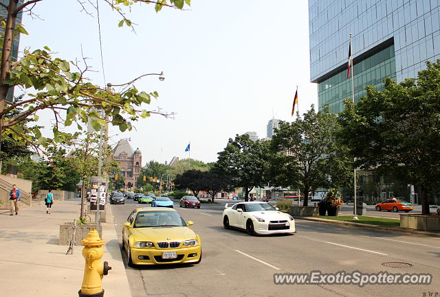
<path id="1" fill-rule="evenodd" d="M 112 205 L 118 237 L 131 210 L 128 200 Z M 296 235 L 251 237 L 225 230 L 222 206 L 177 211 L 195 222 L 201 236 L 203 259 L 198 265 L 136 267 L 126 265 L 133 297 L 140 296 L 440 296 L 440 245 L 434 237 L 389 234 L 362 228 L 296 220 Z M 126 260 L 126 254 L 122 257 Z M 388 262 L 410 268 L 389 268 Z M 275 273 L 322 272 L 429 273 L 430 285 L 275 285 Z M 434 296 L 434 295 L 433 295 Z"/>

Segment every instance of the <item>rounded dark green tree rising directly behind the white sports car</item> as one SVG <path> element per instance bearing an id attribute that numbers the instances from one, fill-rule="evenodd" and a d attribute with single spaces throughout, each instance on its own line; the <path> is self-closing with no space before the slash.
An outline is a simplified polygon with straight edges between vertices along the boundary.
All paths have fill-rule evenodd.
<path id="1" fill-rule="evenodd" d="M 254 187 L 263 187 L 269 156 L 267 145 L 252 141 L 249 135 L 237 134 L 218 155 L 214 171 L 231 176 L 234 186 L 243 187 L 245 201 Z"/>

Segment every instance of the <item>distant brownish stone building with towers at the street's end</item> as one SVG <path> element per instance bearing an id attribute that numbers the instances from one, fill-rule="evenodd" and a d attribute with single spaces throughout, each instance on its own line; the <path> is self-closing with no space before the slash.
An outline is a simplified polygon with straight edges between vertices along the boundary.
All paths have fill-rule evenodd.
<path id="1" fill-rule="evenodd" d="M 133 151 L 128 139 L 121 139 L 111 152 L 111 158 L 120 163 L 121 175 L 125 178 L 125 189 L 133 189 L 142 167 L 142 152 Z"/>

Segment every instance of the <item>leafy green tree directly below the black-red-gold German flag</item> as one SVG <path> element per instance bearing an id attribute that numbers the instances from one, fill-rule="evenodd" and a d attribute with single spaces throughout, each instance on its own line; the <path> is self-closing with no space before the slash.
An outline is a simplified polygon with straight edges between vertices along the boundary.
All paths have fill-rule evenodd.
<path id="1" fill-rule="evenodd" d="M 302 189 L 304 205 L 318 187 L 350 182 L 351 158 L 336 137 L 340 127 L 328 108 L 314 106 L 292 123 L 281 122 L 272 138 L 271 180 L 275 185 Z"/>

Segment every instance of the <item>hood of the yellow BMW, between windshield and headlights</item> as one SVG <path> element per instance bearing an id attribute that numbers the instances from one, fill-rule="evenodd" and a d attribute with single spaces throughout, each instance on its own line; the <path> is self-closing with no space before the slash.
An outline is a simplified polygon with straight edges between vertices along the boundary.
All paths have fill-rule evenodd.
<path id="1" fill-rule="evenodd" d="M 196 239 L 195 232 L 188 227 L 145 227 L 133 228 L 135 241 L 184 241 Z"/>

